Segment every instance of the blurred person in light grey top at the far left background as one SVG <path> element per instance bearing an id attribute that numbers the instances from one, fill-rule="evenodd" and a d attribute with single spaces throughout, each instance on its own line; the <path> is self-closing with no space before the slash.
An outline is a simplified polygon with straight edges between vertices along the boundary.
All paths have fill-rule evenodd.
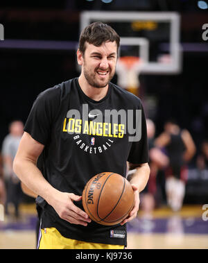
<path id="1" fill-rule="evenodd" d="M 6 184 L 6 203 L 5 214 L 9 215 L 8 205 L 12 203 L 15 207 L 15 218 L 19 218 L 19 203 L 21 202 L 22 191 L 19 178 L 12 170 L 13 160 L 17 153 L 21 136 L 24 133 L 24 124 L 15 120 L 9 125 L 9 134 L 3 139 L 2 157 L 3 157 L 3 177 Z"/>

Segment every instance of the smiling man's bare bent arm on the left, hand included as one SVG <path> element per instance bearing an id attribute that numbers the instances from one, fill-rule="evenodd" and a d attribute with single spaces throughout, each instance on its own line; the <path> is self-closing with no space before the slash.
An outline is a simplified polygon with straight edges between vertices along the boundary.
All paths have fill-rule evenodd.
<path id="1" fill-rule="evenodd" d="M 37 142 L 28 133 L 24 133 L 13 162 L 13 170 L 26 187 L 53 206 L 60 218 L 70 223 L 87 226 L 87 222 L 91 221 L 88 215 L 73 204 L 73 201 L 80 201 L 81 196 L 58 191 L 37 168 L 37 159 L 43 150 L 43 144 Z"/>

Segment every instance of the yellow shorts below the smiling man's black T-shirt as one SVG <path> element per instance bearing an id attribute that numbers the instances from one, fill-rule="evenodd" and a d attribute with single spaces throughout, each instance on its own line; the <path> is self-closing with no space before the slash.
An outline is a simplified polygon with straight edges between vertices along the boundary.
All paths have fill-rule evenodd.
<path id="1" fill-rule="evenodd" d="M 56 228 L 41 229 L 38 249 L 123 249 L 121 245 L 89 243 L 62 237 Z"/>

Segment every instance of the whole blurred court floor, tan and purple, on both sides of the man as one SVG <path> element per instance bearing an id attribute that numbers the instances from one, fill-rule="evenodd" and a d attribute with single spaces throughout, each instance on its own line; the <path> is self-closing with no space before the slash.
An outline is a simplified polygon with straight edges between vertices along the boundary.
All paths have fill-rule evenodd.
<path id="1" fill-rule="evenodd" d="M 202 205 L 185 205 L 173 213 L 168 207 L 146 218 L 140 211 L 128 223 L 128 249 L 208 248 L 208 221 L 202 220 Z M 35 205 L 21 205 L 21 220 L 0 221 L 0 249 L 35 249 Z"/>

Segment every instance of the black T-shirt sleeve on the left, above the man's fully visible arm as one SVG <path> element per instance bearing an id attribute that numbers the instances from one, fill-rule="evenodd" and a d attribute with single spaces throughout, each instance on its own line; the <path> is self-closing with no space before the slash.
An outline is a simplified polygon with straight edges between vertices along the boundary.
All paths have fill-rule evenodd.
<path id="1" fill-rule="evenodd" d="M 33 103 L 24 131 L 46 145 L 51 136 L 51 125 L 60 106 L 60 88 L 55 86 L 40 93 Z"/>

